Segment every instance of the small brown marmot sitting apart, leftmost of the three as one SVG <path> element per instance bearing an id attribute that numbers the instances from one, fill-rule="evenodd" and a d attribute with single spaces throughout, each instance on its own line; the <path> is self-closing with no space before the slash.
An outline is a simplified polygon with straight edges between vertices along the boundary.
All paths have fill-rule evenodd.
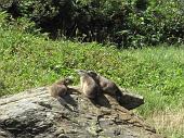
<path id="1" fill-rule="evenodd" d="M 68 91 L 67 86 L 71 83 L 73 80 L 69 77 L 57 80 L 56 83 L 49 87 L 49 92 L 54 98 L 64 97 L 67 95 Z"/>

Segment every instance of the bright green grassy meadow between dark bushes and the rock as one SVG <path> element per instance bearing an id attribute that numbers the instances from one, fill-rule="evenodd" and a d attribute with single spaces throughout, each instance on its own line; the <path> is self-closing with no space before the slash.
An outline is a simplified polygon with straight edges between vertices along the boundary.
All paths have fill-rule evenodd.
<path id="1" fill-rule="evenodd" d="M 162 134 L 170 138 L 184 135 L 183 125 L 159 127 L 160 121 L 154 120 L 167 117 L 165 113 L 172 116 L 180 113 L 180 117 L 184 114 L 181 110 L 184 109 L 184 46 L 117 50 L 95 42 L 52 41 L 25 33 L 18 24 L 8 26 L 1 21 L 4 22 L 2 14 L 0 96 L 50 85 L 64 76 L 74 76 L 77 84 L 76 68 L 94 70 L 120 87 L 144 96 L 145 104 L 136 112 Z"/>

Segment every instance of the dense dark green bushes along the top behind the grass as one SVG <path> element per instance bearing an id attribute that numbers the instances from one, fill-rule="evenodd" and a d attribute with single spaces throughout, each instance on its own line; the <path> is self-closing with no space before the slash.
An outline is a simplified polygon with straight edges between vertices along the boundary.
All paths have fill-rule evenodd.
<path id="1" fill-rule="evenodd" d="M 123 48 L 184 42 L 182 0 L 22 0 L 4 9 L 30 18 L 52 38 Z"/>

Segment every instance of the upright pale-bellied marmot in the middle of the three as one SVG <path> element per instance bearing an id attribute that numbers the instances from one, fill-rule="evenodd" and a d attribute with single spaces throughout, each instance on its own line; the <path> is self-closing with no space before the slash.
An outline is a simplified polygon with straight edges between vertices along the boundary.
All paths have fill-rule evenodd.
<path id="1" fill-rule="evenodd" d="M 101 92 L 100 86 L 86 71 L 77 70 L 77 73 L 80 75 L 81 90 L 83 95 L 90 99 L 95 99 Z"/>

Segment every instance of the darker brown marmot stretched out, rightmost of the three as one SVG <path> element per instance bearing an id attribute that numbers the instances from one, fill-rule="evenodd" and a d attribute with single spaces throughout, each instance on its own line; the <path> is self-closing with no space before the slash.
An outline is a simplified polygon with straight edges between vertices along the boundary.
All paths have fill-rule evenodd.
<path id="1" fill-rule="evenodd" d="M 117 101 L 120 101 L 122 92 L 114 81 L 96 74 L 93 71 L 88 71 L 88 74 L 100 85 L 104 93 L 115 96 Z"/>

